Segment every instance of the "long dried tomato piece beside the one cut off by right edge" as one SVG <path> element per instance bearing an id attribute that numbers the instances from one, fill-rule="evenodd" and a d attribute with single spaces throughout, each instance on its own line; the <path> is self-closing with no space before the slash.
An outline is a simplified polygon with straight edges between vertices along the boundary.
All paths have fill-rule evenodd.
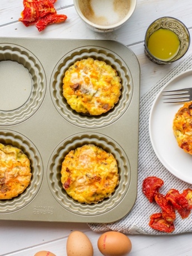
<path id="1" fill-rule="evenodd" d="M 189 203 L 183 194 L 180 194 L 176 189 L 170 189 L 166 194 L 166 200 L 173 204 L 174 208 L 178 210 L 182 219 L 185 219 L 190 214 Z"/>

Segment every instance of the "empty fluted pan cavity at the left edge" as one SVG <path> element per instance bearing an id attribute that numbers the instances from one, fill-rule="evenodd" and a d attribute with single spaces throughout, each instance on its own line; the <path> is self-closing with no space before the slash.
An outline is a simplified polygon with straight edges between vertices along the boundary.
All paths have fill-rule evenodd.
<path id="1" fill-rule="evenodd" d="M 21 46 L 0 45 L 0 125 L 18 124 L 40 107 L 46 76 L 40 61 Z"/>

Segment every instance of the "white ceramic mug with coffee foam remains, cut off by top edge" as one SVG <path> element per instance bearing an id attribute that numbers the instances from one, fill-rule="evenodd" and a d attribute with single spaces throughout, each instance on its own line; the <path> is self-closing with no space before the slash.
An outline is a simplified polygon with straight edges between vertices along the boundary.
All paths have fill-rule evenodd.
<path id="1" fill-rule="evenodd" d="M 137 0 L 73 0 L 76 12 L 96 32 L 120 28 L 134 13 Z"/>

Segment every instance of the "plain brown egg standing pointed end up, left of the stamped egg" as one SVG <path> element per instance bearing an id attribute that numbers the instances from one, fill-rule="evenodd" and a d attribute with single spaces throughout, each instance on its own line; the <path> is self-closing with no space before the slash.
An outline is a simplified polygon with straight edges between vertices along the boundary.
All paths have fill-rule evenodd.
<path id="1" fill-rule="evenodd" d="M 73 231 L 67 239 L 67 256 L 93 256 L 90 239 L 80 231 Z"/>

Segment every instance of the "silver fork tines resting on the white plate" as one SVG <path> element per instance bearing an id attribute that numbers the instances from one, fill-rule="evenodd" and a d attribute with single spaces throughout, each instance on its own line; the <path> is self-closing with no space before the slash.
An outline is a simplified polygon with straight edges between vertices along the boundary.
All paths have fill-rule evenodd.
<path id="1" fill-rule="evenodd" d="M 183 88 L 178 90 L 163 91 L 163 96 L 169 96 L 164 98 L 164 103 L 181 103 L 192 100 L 192 87 Z"/>

